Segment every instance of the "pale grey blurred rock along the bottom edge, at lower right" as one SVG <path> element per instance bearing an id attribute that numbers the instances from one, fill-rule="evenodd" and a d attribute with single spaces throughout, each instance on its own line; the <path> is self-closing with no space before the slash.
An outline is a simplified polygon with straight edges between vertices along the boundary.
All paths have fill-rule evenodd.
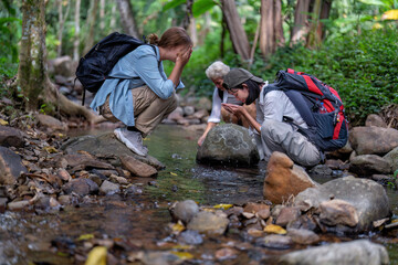
<path id="1" fill-rule="evenodd" d="M 311 247 L 281 257 L 283 264 L 389 264 L 386 247 L 367 240 Z"/>

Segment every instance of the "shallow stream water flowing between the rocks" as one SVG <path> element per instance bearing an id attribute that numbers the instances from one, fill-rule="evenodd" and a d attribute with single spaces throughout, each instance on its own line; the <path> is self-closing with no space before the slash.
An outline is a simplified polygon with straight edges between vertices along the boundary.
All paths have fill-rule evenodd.
<path id="1" fill-rule="evenodd" d="M 161 251 L 176 246 L 170 240 L 168 208 L 175 201 L 192 199 L 201 205 L 219 203 L 243 204 L 262 199 L 265 165 L 253 168 L 202 166 L 196 162 L 199 135 L 176 126 L 159 126 L 145 145 L 149 153 L 166 165 L 156 179 L 133 178 L 143 189 L 140 195 L 115 194 L 85 199 L 77 206 L 56 212 L 6 212 L 0 214 L 0 265 L 2 264 L 83 264 L 86 250 L 84 239 L 94 237 L 96 244 L 113 242 L 119 247 L 119 261 L 137 250 Z M 315 179 L 318 182 L 331 177 Z M 388 189 L 391 209 L 398 214 L 398 194 Z M 391 264 L 398 263 L 397 233 L 369 233 L 359 237 L 384 244 Z M 329 237 L 346 241 L 346 237 Z M 233 242 L 242 242 L 237 258 L 212 262 L 213 250 Z M 249 264 L 283 251 L 259 250 L 244 245 L 244 235 L 229 232 L 227 236 L 206 239 L 189 252 L 191 264 Z M 94 243 L 95 245 L 95 243 Z M 174 245 L 174 246 L 172 246 Z M 115 247 L 114 247 L 115 248 Z"/>

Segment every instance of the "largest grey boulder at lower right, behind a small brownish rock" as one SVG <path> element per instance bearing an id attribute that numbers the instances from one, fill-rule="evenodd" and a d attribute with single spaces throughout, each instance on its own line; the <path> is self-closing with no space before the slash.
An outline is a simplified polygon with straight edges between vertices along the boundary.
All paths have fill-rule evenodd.
<path id="1" fill-rule="evenodd" d="M 383 186 L 353 176 L 306 189 L 294 199 L 294 205 L 306 211 L 311 208 L 320 209 L 321 203 L 334 199 L 346 201 L 356 210 L 358 223 L 354 227 L 346 227 L 349 232 L 370 230 L 374 221 L 390 215 L 389 200 Z"/>

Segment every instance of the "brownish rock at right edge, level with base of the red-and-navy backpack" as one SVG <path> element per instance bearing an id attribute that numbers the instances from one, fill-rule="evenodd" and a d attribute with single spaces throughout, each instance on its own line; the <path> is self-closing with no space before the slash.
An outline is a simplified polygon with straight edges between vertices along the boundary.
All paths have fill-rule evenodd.
<path id="1" fill-rule="evenodd" d="M 398 146 L 398 130 L 380 127 L 355 127 L 349 141 L 357 155 L 384 156 Z"/>

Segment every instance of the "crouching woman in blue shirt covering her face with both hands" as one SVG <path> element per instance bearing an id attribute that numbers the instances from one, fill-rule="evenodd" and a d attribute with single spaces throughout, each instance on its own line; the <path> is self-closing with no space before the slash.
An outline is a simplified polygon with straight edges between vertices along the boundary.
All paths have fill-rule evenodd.
<path id="1" fill-rule="evenodd" d="M 115 136 L 130 150 L 146 156 L 143 145 L 155 127 L 177 107 L 175 91 L 182 88 L 182 70 L 192 53 L 192 41 L 182 28 L 170 28 L 160 40 L 148 36 L 153 45 L 140 45 L 122 57 L 90 105 L 111 121 L 126 127 L 115 129 Z M 167 77 L 163 61 L 175 62 Z"/>

